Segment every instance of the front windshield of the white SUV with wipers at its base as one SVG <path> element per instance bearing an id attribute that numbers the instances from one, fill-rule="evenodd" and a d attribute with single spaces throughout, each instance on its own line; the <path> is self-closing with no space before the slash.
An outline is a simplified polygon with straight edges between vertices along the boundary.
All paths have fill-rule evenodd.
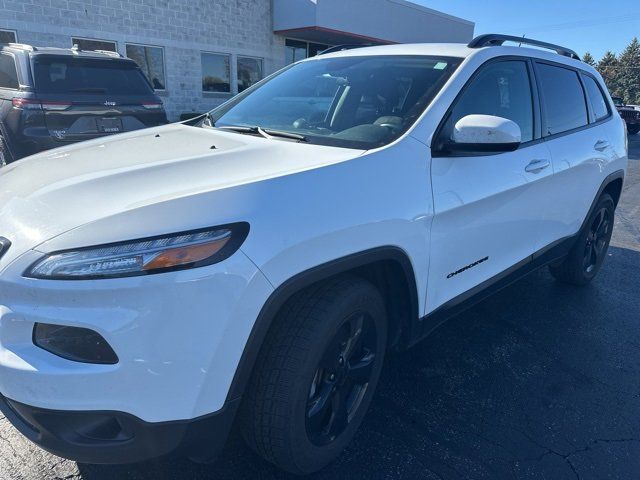
<path id="1" fill-rule="evenodd" d="M 237 128 L 241 133 L 256 134 L 256 127 L 293 133 L 320 145 L 376 148 L 413 125 L 459 63 L 425 56 L 305 61 L 214 110 L 209 123 L 251 127 Z"/>

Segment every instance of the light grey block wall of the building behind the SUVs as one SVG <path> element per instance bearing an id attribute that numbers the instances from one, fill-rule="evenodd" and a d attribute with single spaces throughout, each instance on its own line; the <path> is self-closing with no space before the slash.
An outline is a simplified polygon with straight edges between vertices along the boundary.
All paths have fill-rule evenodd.
<path id="1" fill-rule="evenodd" d="M 0 29 L 36 46 L 72 46 L 71 37 L 164 48 L 169 118 L 207 111 L 232 94 L 202 91 L 201 52 L 230 54 L 232 92 L 238 56 L 262 59 L 264 74 L 284 65 L 273 34 L 271 0 L 0 0 Z"/>

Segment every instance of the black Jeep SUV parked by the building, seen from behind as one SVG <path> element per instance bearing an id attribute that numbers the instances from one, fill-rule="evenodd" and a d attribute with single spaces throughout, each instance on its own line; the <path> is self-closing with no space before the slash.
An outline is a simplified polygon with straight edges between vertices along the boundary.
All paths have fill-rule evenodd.
<path id="1" fill-rule="evenodd" d="M 138 65 L 115 52 L 0 45 L 0 166 L 167 123 Z"/>

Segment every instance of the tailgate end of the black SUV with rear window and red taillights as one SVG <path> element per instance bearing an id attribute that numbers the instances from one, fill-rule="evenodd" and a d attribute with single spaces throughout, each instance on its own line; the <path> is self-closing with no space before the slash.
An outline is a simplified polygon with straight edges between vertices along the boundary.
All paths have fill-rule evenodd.
<path id="1" fill-rule="evenodd" d="M 166 123 L 161 102 L 130 60 L 36 56 L 33 71 L 46 126 L 60 141 Z"/>

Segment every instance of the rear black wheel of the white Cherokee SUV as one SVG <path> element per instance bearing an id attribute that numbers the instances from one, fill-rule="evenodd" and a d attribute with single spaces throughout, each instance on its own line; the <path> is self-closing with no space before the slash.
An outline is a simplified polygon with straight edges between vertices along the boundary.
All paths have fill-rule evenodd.
<path id="1" fill-rule="evenodd" d="M 598 200 L 569 254 L 561 263 L 549 266 L 556 279 L 573 285 L 586 285 L 595 278 L 607 255 L 614 215 L 613 198 L 605 193 Z"/>

